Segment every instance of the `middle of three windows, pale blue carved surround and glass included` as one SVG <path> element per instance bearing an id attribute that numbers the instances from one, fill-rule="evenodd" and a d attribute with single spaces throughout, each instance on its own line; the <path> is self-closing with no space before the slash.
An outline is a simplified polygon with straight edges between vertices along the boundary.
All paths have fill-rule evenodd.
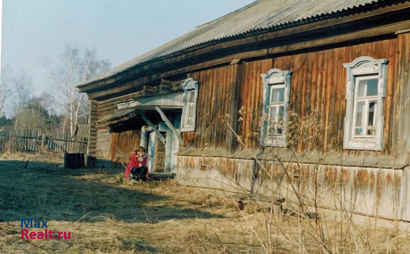
<path id="1" fill-rule="evenodd" d="M 263 115 L 267 115 L 261 128 L 262 146 L 286 146 L 286 122 L 291 86 L 291 71 L 271 69 L 261 74 L 263 79 Z"/>

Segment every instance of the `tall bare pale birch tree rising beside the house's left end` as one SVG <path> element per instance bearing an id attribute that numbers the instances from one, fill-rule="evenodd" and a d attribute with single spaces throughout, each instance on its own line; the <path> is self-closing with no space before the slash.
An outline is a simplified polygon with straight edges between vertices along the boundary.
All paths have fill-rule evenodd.
<path id="1" fill-rule="evenodd" d="M 56 86 L 60 110 L 67 116 L 69 130 L 74 134 L 78 120 L 87 114 L 88 100 L 76 86 L 110 69 L 110 62 L 98 60 L 95 49 L 81 51 L 67 45 L 57 65 L 51 65 L 51 79 Z"/>

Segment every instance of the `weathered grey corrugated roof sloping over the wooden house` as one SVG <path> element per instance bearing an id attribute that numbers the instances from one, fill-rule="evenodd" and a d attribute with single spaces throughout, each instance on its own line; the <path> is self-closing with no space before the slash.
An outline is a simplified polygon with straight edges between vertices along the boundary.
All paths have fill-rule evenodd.
<path id="1" fill-rule="evenodd" d="M 397 1 L 394 1 L 397 2 Z M 325 18 L 343 15 L 345 12 L 378 8 L 391 0 L 258 0 L 248 6 L 196 27 L 176 39 L 142 54 L 131 61 L 95 77 L 81 85 L 101 81 L 132 67 L 143 65 L 177 52 L 210 44 L 235 40 L 255 33 L 298 26 Z"/>

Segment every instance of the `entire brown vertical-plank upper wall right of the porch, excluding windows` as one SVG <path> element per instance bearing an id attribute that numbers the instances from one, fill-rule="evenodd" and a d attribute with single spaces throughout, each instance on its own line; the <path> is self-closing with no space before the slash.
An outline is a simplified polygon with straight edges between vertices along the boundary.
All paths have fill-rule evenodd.
<path id="1" fill-rule="evenodd" d="M 376 158 L 380 155 L 391 156 L 393 151 L 400 152 L 400 149 L 394 148 L 397 141 L 407 139 L 404 136 L 408 135 L 408 132 L 402 129 L 396 133 L 400 136 L 396 136 L 395 141 L 393 136 L 395 128 L 399 128 L 398 122 L 403 121 L 402 116 L 398 115 L 405 115 L 408 112 L 405 108 L 408 107 L 397 106 L 396 116 L 393 111 L 395 101 L 401 105 L 406 105 L 408 101 L 407 93 L 410 89 L 408 88 L 408 64 L 406 65 L 410 57 L 407 53 L 408 36 L 407 33 L 389 40 L 243 62 L 236 83 L 231 82 L 236 75 L 232 65 L 189 73 L 189 77 L 199 81 L 197 124 L 195 132 L 183 133 L 184 145 L 191 149 L 227 148 L 229 150 L 229 144 L 226 143 L 228 129 L 222 116 L 229 113 L 232 104 L 229 103 L 231 102 L 230 91 L 232 92 L 230 88 L 236 86 L 240 91 L 236 111 L 243 108 L 240 115 L 243 121 L 239 123 L 238 134 L 248 148 L 261 148 L 259 126 L 262 116 L 263 83 L 260 74 L 266 73 L 271 68 L 278 68 L 292 71 L 290 112 L 297 113 L 300 119 L 312 117 L 316 112 L 317 121 L 322 123 L 319 129 L 320 135 L 315 141 L 305 143 L 303 146 L 296 144 L 295 148 L 299 151 L 309 148 L 318 152 L 341 150 L 346 113 L 346 70 L 342 64 L 350 63 L 360 56 L 371 56 L 375 59 L 388 60 L 384 100 L 384 149 L 382 151 L 344 150 L 343 153 Z M 400 89 L 405 94 L 398 94 Z M 400 126 L 404 128 L 405 125 Z M 304 130 L 300 128 L 299 132 L 303 131 L 305 135 L 310 135 L 314 132 L 314 127 Z M 401 147 L 410 151 L 410 145 L 407 143 Z M 404 157 L 406 158 L 403 160 L 407 160 L 408 153 Z"/>

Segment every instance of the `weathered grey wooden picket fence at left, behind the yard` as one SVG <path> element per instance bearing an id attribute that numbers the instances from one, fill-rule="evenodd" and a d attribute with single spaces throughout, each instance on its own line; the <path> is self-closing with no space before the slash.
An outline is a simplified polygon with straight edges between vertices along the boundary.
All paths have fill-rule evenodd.
<path id="1" fill-rule="evenodd" d="M 0 132 L 0 149 L 10 152 L 67 152 L 85 153 L 87 138 L 72 138 L 70 133 L 46 134 L 38 130 Z"/>

